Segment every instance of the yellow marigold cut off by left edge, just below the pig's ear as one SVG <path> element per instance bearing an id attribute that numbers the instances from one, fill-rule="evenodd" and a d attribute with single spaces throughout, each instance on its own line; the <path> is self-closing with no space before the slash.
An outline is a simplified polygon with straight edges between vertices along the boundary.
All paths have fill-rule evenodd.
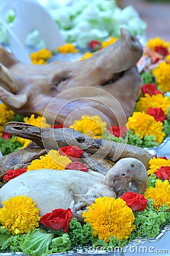
<path id="1" fill-rule="evenodd" d="M 9 109 L 4 103 L 0 104 L 0 113 L 0 125 L 5 125 L 5 123 L 11 121 L 15 115 L 15 112 Z"/>

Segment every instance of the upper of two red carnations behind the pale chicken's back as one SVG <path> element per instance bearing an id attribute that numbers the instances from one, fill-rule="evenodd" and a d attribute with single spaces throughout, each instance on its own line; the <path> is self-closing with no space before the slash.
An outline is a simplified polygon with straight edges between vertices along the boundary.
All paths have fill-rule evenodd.
<path id="1" fill-rule="evenodd" d="M 60 155 L 68 156 L 73 162 L 79 159 L 80 156 L 82 156 L 84 153 L 84 151 L 80 149 L 78 146 L 60 147 L 58 151 Z"/>

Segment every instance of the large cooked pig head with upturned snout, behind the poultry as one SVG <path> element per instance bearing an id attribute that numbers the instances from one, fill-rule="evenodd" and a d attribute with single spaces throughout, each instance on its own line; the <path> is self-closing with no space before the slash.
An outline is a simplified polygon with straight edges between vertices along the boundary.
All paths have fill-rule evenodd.
<path id="1" fill-rule="evenodd" d="M 27 65 L 0 47 L 0 100 L 15 113 L 73 123 L 83 114 L 125 125 L 142 85 L 142 46 L 125 28 L 116 43 L 81 61 Z"/>

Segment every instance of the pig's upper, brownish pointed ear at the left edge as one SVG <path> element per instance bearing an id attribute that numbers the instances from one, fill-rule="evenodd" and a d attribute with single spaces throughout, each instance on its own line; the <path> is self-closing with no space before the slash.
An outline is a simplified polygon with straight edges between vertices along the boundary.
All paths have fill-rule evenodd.
<path id="1" fill-rule="evenodd" d="M 16 57 L 12 53 L 8 52 L 5 48 L 0 46 L 0 63 L 8 68 L 15 63 L 19 63 L 19 60 L 16 59 Z"/>

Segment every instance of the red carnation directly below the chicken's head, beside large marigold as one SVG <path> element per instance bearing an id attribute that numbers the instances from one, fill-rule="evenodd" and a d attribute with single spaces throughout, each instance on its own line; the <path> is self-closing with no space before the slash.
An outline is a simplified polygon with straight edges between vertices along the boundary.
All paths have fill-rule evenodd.
<path id="1" fill-rule="evenodd" d="M 138 193 L 126 192 L 121 196 L 121 199 L 123 199 L 126 202 L 126 205 L 128 205 L 128 207 L 133 211 L 139 210 L 139 212 L 141 212 L 147 207 L 148 200 Z"/>

